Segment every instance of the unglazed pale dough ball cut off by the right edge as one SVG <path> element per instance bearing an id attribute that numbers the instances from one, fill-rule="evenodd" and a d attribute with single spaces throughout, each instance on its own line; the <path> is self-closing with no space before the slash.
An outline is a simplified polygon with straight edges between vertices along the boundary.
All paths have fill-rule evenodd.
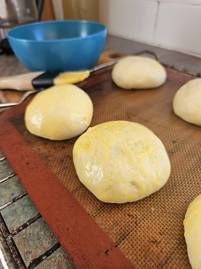
<path id="1" fill-rule="evenodd" d="M 188 81 L 176 92 L 173 110 L 184 121 L 201 126 L 201 79 Z"/>

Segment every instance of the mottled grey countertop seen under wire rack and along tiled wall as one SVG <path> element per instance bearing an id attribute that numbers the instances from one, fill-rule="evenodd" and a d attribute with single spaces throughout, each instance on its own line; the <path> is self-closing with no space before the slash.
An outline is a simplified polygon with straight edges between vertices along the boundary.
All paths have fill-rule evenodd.
<path id="1" fill-rule="evenodd" d="M 201 58 L 186 55 L 180 52 L 174 52 L 167 49 L 162 49 L 143 43 L 126 40 L 119 37 L 107 36 L 105 51 L 121 51 L 128 54 L 133 54 L 141 50 L 151 50 L 160 56 L 160 61 L 169 65 L 177 66 L 178 68 L 189 69 L 194 72 L 201 72 Z M 0 74 L 1 76 L 15 75 L 27 72 L 28 70 L 18 61 L 14 55 L 0 56 Z M 0 91 L 1 100 L 1 91 Z M 3 100 L 2 100 L 3 101 Z M 3 154 L 0 152 L 0 158 Z M 0 162 L 0 179 L 13 172 L 9 163 L 4 160 Z M 13 197 L 24 192 L 17 176 L 1 183 L 0 206 L 8 202 Z M 38 210 L 33 204 L 30 197 L 27 195 L 3 209 L 1 214 L 10 230 L 13 231 L 28 219 L 38 214 Z M 14 236 L 14 241 L 23 257 L 25 264 L 43 254 L 57 242 L 54 234 L 51 232 L 48 225 L 40 218 L 32 225 L 24 229 L 22 232 Z M 2 268 L 0 264 L 0 269 Z M 68 255 L 62 247 L 56 250 L 50 257 L 44 260 L 37 268 L 74 268 Z"/>

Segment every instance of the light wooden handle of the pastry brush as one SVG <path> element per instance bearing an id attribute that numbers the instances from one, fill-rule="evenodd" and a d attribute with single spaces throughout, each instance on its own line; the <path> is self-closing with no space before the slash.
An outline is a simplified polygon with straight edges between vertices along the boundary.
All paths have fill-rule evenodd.
<path id="1" fill-rule="evenodd" d="M 34 90 L 32 86 L 32 79 L 44 73 L 40 72 L 29 72 L 22 75 L 0 77 L 0 90 L 13 89 L 18 91 Z"/>

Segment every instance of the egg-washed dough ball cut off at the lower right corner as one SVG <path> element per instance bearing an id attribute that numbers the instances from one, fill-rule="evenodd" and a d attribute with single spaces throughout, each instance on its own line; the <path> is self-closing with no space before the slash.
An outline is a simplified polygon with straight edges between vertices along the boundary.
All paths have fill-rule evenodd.
<path id="1" fill-rule="evenodd" d="M 184 219 L 184 236 L 192 269 L 201 268 L 201 194 L 189 205 Z"/>

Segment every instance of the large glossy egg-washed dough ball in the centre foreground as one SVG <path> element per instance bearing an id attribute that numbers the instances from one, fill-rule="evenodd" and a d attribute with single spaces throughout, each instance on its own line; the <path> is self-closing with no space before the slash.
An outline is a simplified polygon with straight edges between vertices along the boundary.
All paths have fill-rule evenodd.
<path id="1" fill-rule="evenodd" d="M 89 128 L 73 147 L 80 181 L 101 201 L 132 202 L 159 190 L 170 175 L 161 140 L 135 122 L 110 121 Z"/>

